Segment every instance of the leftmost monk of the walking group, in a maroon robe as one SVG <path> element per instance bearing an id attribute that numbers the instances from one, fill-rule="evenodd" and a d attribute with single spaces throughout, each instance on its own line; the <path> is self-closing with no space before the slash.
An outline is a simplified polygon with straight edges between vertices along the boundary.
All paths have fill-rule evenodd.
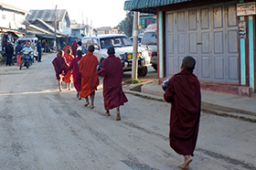
<path id="1" fill-rule="evenodd" d="M 56 58 L 53 59 L 52 64 L 54 66 L 55 72 L 56 72 L 56 78 L 59 82 L 59 91 L 62 90 L 61 84 L 62 84 L 62 79 L 64 75 L 67 73 L 67 70 L 69 68 L 69 65 L 64 58 L 64 51 L 59 50 L 59 53 Z"/>

